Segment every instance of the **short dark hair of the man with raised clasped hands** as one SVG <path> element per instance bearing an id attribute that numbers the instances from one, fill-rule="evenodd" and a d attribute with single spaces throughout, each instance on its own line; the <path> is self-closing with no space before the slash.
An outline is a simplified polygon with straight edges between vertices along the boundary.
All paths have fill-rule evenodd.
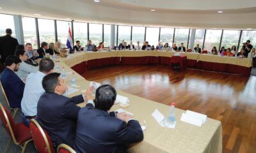
<path id="1" fill-rule="evenodd" d="M 45 92 L 54 92 L 56 86 L 60 84 L 59 77 L 60 73 L 50 73 L 45 75 L 42 80 L 42 85 Z"/>

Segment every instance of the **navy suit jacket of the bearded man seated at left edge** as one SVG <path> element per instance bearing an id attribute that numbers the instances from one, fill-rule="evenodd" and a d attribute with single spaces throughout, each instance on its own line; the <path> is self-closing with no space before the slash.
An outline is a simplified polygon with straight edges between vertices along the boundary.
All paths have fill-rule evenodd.
<path id="1" fill-rule="evenodd" d="M 6 92 L 11 108 L 20 108 L 25 84 L 9 68 L 5 68 L 1 74 L 1 82 Z"/>

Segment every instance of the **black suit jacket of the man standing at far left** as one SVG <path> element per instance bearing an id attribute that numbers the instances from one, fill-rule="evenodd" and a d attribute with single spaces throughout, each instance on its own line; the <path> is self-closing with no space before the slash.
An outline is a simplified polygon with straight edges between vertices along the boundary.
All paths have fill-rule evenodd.
<path id="1" fill-rule="evenodd" d="M 0 54 L 3 61 L 9 55 L 14 55 L 17 45 L 19 45 L 18 41 L 8 34 L 0 37 Z"/>

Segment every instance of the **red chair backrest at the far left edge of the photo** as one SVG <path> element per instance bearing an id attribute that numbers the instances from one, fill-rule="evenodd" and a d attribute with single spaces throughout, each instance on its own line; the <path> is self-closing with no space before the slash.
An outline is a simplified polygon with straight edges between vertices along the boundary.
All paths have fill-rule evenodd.
<path id="1" fill-rule="evenodd" d="M 13 142 L 17 142 L 15 138 L 15 122 L 11 113 L 0 103 L 0 117 L 3 123 L 4 128 L 7 133 L 13 139 Z"/>

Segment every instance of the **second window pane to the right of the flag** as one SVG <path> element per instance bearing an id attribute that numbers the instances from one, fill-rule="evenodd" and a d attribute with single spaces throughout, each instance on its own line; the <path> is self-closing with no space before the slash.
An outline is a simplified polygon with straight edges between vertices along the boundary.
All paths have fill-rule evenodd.
<path id="1" fill-rule="evenodd" d="M 89 24 L 89 34 L 89 40 L 98 47 L 102 42 L 102 24 Z"/>

